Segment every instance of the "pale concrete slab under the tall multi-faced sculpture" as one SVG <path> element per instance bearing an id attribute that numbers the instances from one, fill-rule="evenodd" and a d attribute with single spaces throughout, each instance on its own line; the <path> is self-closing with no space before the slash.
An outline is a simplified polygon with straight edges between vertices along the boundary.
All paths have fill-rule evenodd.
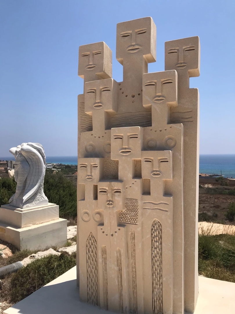
<path id="1" fill-rule="evenodd" d="M 235 284 L 199 277 L 199 297 L 194 314 L 235 313 Z M 79 301 L 76 267 L 51 281 L 3 314 L 104 314 L 98 306 Z M 186 313 L 185 313 L 186 314 Z"/>

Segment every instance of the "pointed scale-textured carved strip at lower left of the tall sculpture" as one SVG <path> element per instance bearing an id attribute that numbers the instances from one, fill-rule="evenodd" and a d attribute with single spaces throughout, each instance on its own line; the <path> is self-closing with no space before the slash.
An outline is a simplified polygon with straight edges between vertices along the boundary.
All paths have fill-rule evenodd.
<path id="1" fill-rule="evenodd" d="M 97 244 L 92 233 L 86 240 L 87 302 L 98 305 Z"/>

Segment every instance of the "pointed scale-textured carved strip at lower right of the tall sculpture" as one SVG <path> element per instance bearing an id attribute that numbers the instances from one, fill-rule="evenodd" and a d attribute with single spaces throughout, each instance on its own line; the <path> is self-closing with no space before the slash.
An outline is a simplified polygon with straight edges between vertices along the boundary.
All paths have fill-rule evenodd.
<path id="1" fill-rule="evenodd" d="M 162 226 L 157 219 L 152 224 L 152 285 L 153 313 L 162 313 Z"/>

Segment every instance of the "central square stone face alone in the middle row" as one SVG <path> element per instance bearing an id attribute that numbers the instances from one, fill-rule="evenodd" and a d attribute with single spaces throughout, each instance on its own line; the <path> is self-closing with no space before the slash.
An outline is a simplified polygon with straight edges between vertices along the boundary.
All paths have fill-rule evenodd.
<path id="1" fill-rule="evenodd" d="M 111 159 L 123 157 L 140 159 L 143 143 L 142 127 L 118 127 L 111 129 Z"/>

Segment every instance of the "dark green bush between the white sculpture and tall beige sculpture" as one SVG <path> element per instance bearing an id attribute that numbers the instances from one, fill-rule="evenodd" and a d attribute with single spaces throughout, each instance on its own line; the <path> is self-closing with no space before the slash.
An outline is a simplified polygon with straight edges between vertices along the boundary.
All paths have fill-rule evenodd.
<path id="1" fill-rule="evenodd" d="M 75 218 L 77 215 L 77 189 L 60 171 L 53 175 L 46 171 L 44 193 L 50 203 L 60 207 L 61 218 Z"/>

